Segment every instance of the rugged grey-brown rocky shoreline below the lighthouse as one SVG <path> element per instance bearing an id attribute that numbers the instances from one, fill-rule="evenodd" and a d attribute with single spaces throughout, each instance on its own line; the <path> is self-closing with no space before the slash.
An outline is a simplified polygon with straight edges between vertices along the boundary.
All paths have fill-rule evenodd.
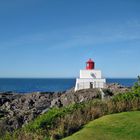
<path id="1" fill-rule="evenodd" d="M 119 84 L 108 84 L 104 89 L 105 96 L 129 91 L 130 88 Z M 98 89 L 87 89 L 74 92 L 37 92 L 18 94 L 12 92 L 0 93 L 0 133 L 12 132 L 47 112 L 50 108 L 62 107 L 100 97 Z"/>

